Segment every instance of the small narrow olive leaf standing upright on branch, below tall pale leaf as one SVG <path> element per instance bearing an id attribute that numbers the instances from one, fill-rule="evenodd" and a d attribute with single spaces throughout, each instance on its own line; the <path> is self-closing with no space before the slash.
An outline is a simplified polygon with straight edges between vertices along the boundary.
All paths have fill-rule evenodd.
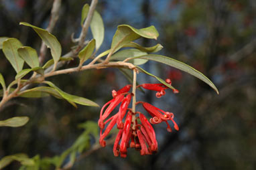
<path id="1" fill-rule="evenodd" d="M 90 40 L 90 42 L 82 49 L 78 57 L 80 58 L 80 66 L 88 59 L 90 56 L 92 56 L 92 53 L 95 48 L 95 39 Z"/>

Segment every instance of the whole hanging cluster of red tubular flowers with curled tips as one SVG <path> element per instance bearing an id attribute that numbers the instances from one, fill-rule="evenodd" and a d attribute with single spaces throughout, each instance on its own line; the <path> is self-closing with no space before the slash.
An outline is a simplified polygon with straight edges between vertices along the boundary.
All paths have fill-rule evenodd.
<path id="1" fill-rule="evenodd" d="M 168 84 L 172 83 L 170 79 L 166 80 L 166 82 Z M 137 87 L 140 86 L 147 90 L 157 91 L 157 98 L 164 96 L 164 94 L 166 94 L 165 90 L 168 88 L 164 84 L 141 84 Z M 167 131 L 171 132 L 172 130 L 168 120 L 172 120 L 174 129 L 176 129 L 176 131 L 179 130 L 178 125 L 174 121 L 174 114 L 172 112 L 165 112 L 147 102 L 137 102 L 136 105 L 142 104 L 143 108 L 145 108 L 152 118 L 147 120 L 146 116 L 141 112 L 132 112 L 131 108 L 128 108 L 133 96 L 133 94 L 129 92 L 130 89 L 131 85 L 127 85 L 118 91 L 113 90 L 113 99 L 103 106 L 98 121 L 101 129 L 99 143 L 102 147 L 106 146 L 104 139 L 109 135 L 115 124 L 117 124 L 119 132 L 117 133 L 113 146 L 113 153 L 116 157 L 119 155 L 126 157 L 127 148 L 129 147 L 140 151 L 141 155 L 151 155 L 155 153 L 158 147 L 155 139 L 155 131 L 151 124 L 166 122 L 168 125 Z M 174 92 L 178 92 L 178 90 L 174 90 Z M 109 117 L 117 106 L 119 106 L 119 111 Z M 125 122 L 123 122 L 123 118 L 125 118 Z M 107 126 L 105 126 L 106 124 Z"/>

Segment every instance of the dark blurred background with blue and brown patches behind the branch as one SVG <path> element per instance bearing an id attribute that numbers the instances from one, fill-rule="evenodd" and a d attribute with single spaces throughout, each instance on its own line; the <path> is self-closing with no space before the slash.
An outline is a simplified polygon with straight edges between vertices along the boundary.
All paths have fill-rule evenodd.
<path id="1" fill-rule="evenodd" d="M 53 1 L 0 0 L 0 36 L 15 37 L 23 45 L 40 50 L 41 39 L 25 21 L 46 28 Z M 80 13 L 90 1 L 64 1 L 52 33 L 62 44 L 62 54 L 74 46 L 70 36 L 80 33 Z M 256 1 L 254 0 L 99 0 L 97 11 L 105 23 L 100 52 L 110 48 L 117 25 L 136 28 L 155 25 L 157 41 L 139 39 L 142 46 L 164 46 L 157 54 L 180 60 L 206 75 L 216 85 L 217 95 L 204 82 L 163 64 L 147 62 L 143 68 L 165 79 L 172 90 L 162 98 L 155 92 L 137 92 L 137 100 L 174 112 L 180 131 L 168 133 L 166 124 L 155 124 L 159 151 L 141 156 L 128 149 L 126 159 L 114 157 L 113 145 L 92 152 L 72 169 L 256 169 Z M 89 33 L 88 39 L 92 37 Z M 50 58 L 50 52 L 46 54 Z M 78 65 L 74 60 L 65 67 Z M 9 84 L 15 71 L 0 52 L 0 72 Z M 65 92 L 84 96 L 101 106 L 111 91 L 129 84 L 115 68 L 88 70 L 49 78 Z M 156 83 L 139 74 L 141 83 Z M 140 110 L 141 108 L 138 108 Z M 0 128 L 0 159 L 15 153 L 29 157 L 54 157 L 68 149 L 83 133 L 78 124 L 97 122 L 100 108 L 72 107 L 53 97 L 15 98 L 1 110 L 0 120 L 29 116 L 25 126 Z M 145 112 L 141 109 L 141 112 Z M 94 137 L 90 138 L 93 145 Z M 86 150 L 90 150 L 87 147 Z M 85 151 L 86 151 L 85 150 Z M 253 161 L 254 160 L 254 161 Z M 68 162 L 68 159 L 66 160 Z M 18 169 L 11 163 L 6 169 Z M 44 168 L 42 168 L 44 169 Z M 47 169 L 54 169 L 54 166 Z"/>

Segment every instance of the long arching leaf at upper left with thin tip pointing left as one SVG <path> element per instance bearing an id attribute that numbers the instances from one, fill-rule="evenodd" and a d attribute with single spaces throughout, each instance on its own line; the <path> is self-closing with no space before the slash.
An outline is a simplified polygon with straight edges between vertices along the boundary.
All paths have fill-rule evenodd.
<path id="1" fill-rule="evenodd" d="M 52 58 L 54 59 L 54 65 L 58 63 L 60 60 L 60 56 L 62 54 L 62 47 L 60 46 L 60 43 L 58 39 L 52 35 L 52 33 L 49 33 L 46 31 L 46 29 L 42 29 L 40 27 L 36 27 L 34 25 L 31 25 L 30 23 L 21 22 L 19 25 L 25 25 L 28 27 L 32 27 L 36 33 L 41 37 L 41 39 L 44 41 L 46 46 L 50 48 Z"/>

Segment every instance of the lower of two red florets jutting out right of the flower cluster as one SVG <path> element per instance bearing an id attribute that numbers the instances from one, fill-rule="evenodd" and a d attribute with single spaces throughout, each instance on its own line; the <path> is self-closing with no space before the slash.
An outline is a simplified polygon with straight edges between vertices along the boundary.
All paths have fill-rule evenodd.
<path id="1" fill-rule="evenodd" d="M 151 124 L 158 124 L 162 121 L 166 122 L 167 124 L 167 131 L 172 132 L 172 129 L 170 127 L 170 124 L 167 122 L 167 120 L 172 120 L 174 123 L 174 129 L 176 131 L 179 131 L 178 124 L 174 121 L 174 114 L 172 112 L 165 112 L 164 110 L 161 110 L 160 108 L 157 108 L 147 102 L 137 102 L 137 103 L 142 103 L 143 108 L 147 110 L 147 112 L 152 116 L 150 118 Z"/>

